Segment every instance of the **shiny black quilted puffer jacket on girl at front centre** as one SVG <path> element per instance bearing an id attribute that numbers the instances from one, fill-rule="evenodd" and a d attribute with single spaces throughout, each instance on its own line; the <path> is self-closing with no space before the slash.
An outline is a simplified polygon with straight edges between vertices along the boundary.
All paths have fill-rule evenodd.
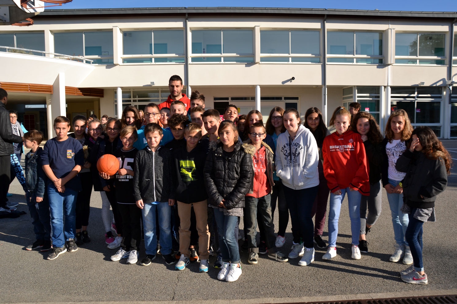
<path id="1" fill-rule="evenodd" d="M 208 203 L 213 206 L 225 199 L 227 210 L 244 207 L 244 196 L 252 187 L 254 171 L 250 154 L 235 143 L 230 157 L 224 155 L 222 143 L 210 146 L 203 170 Z"/>

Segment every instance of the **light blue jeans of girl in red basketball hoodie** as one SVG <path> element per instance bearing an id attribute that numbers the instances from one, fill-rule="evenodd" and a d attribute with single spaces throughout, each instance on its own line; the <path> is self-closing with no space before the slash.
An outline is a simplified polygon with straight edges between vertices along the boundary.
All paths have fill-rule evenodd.
<path id="1" fill-rule="evenodd" d="M 359 245 L 360 232 L 360 199 L 362 194 L 359 191 L 351 191 L 351 188 L 340 189 L 341 194 L 330 194 L 329 210 L 329 247 L 336 246 L 336 237 L 338 236 L 338 220 L 340 219 L 341 204 L 345 194 L 347 194 L 349 206 L 349 218 L 351 219 L 352 245 Z"/>

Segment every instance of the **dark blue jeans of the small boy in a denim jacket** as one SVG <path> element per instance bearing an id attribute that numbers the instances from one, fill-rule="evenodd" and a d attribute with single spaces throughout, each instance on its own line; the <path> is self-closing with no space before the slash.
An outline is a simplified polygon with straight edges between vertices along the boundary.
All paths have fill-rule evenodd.
<path id="1" fill-rule="evenodd" d="M 27 191 L 26 200 L 32 217 L 35 238 L 42 241 L 51 241 L 51 215 L 49 214 L 48 195 L 45 194 L 43 201 L 37 203 L 37 193 Z"/>

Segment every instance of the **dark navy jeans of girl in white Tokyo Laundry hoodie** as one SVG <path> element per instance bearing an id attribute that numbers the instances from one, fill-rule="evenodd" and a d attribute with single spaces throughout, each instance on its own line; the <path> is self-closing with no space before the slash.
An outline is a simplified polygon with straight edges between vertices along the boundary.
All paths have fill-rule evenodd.
<path id="1" fill-rule="evenodd" d="M 314 224 L 312 210 L 319 186 L 300 190 L 294 190 L 287 186 L 283 188 L 287 207 L 290 211 L 293 241 L 299 243 L 301 238 L 303 246 L 313 248 Z"/>

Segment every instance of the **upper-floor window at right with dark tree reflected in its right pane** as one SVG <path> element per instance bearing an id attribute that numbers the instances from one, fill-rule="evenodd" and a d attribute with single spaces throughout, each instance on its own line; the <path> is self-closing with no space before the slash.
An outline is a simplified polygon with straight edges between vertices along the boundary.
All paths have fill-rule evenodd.
<path id="1" fill-rule="evenodd" d="M 395 63 L 445 64 L 445 34 L 395 34 Z"/>

